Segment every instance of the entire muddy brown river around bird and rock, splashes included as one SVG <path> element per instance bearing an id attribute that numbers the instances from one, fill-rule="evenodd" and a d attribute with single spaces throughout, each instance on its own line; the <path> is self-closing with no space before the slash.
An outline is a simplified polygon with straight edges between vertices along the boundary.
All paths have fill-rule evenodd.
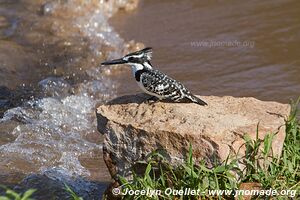
<path id="1" fill-rule="evenodd" d="M 0 0 L 0 183 L 29 173 L 110 181 L 94 107 L 140 89 L 128 67 L 99 63 L 130 40 L 195 94 L 300 96 L 299 1 L 121 4 Z"/>

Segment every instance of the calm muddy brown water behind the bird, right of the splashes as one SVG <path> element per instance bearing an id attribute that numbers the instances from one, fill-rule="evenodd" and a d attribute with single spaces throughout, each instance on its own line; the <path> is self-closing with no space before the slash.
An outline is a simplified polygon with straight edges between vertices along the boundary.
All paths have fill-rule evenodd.
<path id="1" fill-rule="evenodd" d="M 299 1 L 142 1 L 111 23 L 126 40 L 152 46 L 154 66 L 196 94 L 300 96 Z M 133 81 L 128 90 L 136 91 Z"/>

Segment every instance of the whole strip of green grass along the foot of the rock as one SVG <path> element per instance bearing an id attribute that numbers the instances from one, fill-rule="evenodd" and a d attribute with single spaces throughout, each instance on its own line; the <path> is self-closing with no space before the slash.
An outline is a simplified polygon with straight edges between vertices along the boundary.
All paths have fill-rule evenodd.
<path id="1" fill-rule="evenodd" d="M 209 190 L 239 190 L 242 183 L 258 184 L 261 190 L 294 190 L 293 198 L 299 197 L 300 191 L 300 125 L 297 119 L 297 103 L 292 105 L 292 111 L 286 120 L 286 138 L 281 157 L 273 156 L 272 140 L 276 133 L 269 133 L 265 138 L 245 140 L 245 156 L 228 156 L 221 164 L 209 169 L 204 161 L 195 164 L 192 159 L 192 146 L 185 162 L 173 167 L 162 155 L 153 153 L 144 164 L 146 170 L 143 175 L 137 175 L 134 171 L 131 180 L 119 177 L 121 191 L 149 190 L 162 191 L 151 195 L 136 194 L 123 195 L 123 199 L 234 199 L 233 195 L 212 196 Z M 259 126 L 259 125 L 258 125 Z M 262 162 L 264 161 L 264 162 Z M 242 163 L 245 167 L 241 170 L 238 166 Z M 166 195 L 168 188 L 175 190 L 191 188 L 201 191 L 199 195 Z M 294 192 L 293 191 L 293 192 Z M 266 199 L 267 197 L 255 196 L 254 199 Z M 289 199 L 288 196 L 276 196 L 276 199 Z"/>

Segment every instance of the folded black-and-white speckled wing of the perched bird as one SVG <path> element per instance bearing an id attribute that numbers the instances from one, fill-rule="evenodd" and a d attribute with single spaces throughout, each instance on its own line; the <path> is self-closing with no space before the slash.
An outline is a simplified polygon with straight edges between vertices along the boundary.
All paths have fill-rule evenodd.
<path id="1" fill-rule="evenodd" d="M 141 74 L 144 88 L 164 98 L 180 98 L 187 89 L 178 81 L 168 77 L 158 70 L 145 71 Z"/>

